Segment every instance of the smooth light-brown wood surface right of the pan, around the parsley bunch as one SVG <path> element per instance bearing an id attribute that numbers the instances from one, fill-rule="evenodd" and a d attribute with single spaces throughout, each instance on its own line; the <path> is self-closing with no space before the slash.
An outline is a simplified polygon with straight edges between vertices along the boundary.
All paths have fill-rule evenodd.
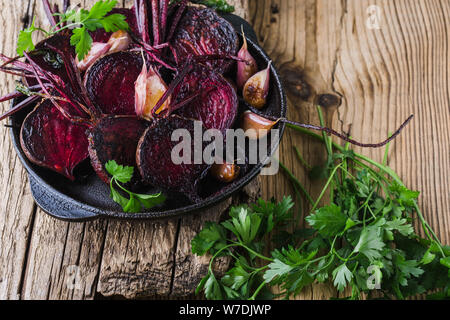
<path id="1" fill-rule="evenodd" d="M 367 25 L 371 5 L 380 12 L 379 29 Z M 337 112 L 326 111 L 328 125 L 359 140 L 384 140 L 416 114 L 393 144 L 389 164 L 410 188 L 422 191 L 420 205 L 444 243 L 450 241 L 449 8 L 448 1 L 420 0 L 250 2 L 260 41 L 287 84 L 291 119 L 318 123 L 314 98 L 299 98 L 299 74 L 313 96 L 343 97 Z M 307 179 L 292 155 L 294 145 L 312 165 L 323 163 L 324 151 L 291 132 L 281 147 L 282 161 L 315 195 L 320 183 Z M 383 150 L 357 151 L 378 161 L 383 157 Z M 281 175 L 265 178 L 263 186 L 266 198 L 292 192 Z M 314 286 L 300 298 L 333 293 L 323 290 Z"/>

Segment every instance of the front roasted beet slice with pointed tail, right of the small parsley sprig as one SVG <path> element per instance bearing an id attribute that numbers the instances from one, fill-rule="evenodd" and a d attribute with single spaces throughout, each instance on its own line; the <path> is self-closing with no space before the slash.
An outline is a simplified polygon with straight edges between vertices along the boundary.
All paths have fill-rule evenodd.
<path id="1" fill-rule="evenodd" d="M 185 194 L 191 201 L 199 201 L 197 184 L 208 170 L 205 164 L 175 164 L 172 149 L 180 142 L 172 141 L 176 129 L 186 129 L 191 139 L 191 160 L 194 150 L 194 121 L 171 116 L 149 127 L 137 149 L 137 162 L 145 181 L 167 190 Z"/>

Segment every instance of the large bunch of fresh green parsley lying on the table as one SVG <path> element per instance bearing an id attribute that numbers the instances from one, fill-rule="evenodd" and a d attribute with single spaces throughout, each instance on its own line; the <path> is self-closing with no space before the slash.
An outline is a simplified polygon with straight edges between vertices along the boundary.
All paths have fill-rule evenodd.
<path id="1" fill-rule="evenodd" d="M 303 193 L 312 206 L 307 227 L 297 227 L 290 197 L 232 208 L 228 220 L 207 223 L 192 240 L 195 254 L 211 255 L 197 293 L 203 290 L 207 299 L 290 298 L 313 283 L 331 282 L 341 292 L 350 288 L 349 299 L 404 299 L 430 292 L 429 298 L 448 298 L 450 246 L 439 242 L 424 219 L 419 192 L 407 189 L 386 163 L 334 144 L 326 135 L 290 127 L 322 141 L 328 153 L 324 166 L 305 166 L 311 178 L 324 181 L 315 201 L 282 165 L 296 198 Z M 326 194 L 330 200 L 319 206 Z M 414 231 L 416 217 L 425 238 Z M 232 266 L 219 277 L 213 266 L 221 256 L 229 256 Z M 276 295 L 271 293 L 275 286 Z"/>

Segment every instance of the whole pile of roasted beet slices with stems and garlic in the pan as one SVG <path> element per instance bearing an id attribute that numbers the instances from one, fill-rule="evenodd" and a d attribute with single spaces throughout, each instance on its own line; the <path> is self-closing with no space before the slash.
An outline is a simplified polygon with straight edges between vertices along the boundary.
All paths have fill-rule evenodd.
<path id="1" fill-rule="evenodd" d="M 177 129 L 193 133 L 195 120 L 222 132 L 234 125 L 238 98 L 225 76 L 235 69 L 238 35 L 214 10 L 186 1 L 157 3 L 161 7 L 143 0 L 114 9 L 130 29 L 93 32 L 83 61 L 64 32 L 39 43 L 25 62 L 2 58 L 23 71 L 25 84 L 42 93 L 39 100 L 46 97 L 15 107 L 38 102 L 21 130 L 31 162 L 75 180 L 74 169 L 90 158 L 108 183 L 105 164 L 115 160 L 137 169 L 130 185 L 156 186 L 197 202 L 209 166 L 174 164 L 171 136 Z"/>

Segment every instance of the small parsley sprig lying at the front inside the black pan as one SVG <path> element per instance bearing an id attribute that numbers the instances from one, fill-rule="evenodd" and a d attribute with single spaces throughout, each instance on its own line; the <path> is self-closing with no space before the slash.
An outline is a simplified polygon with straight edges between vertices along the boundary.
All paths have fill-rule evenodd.
<path id="1" fill-rule="evenodd" d="M 122 184 L 131 181 L 134 173 L 133 167 L 124 167 L 112 160 L 105 165 L 105 168 L 112 176 L 110 182 L 111 197 L 116 203 L 120 204 L 124 212 L 139 213 L 142 208 L 151 209 L 166 201 L 166 197 L 161 193 L 153 195 L 138 194 L 123 187 Z M 127 194 L 128 198 L 124 197 L 121 192 Z"/>

